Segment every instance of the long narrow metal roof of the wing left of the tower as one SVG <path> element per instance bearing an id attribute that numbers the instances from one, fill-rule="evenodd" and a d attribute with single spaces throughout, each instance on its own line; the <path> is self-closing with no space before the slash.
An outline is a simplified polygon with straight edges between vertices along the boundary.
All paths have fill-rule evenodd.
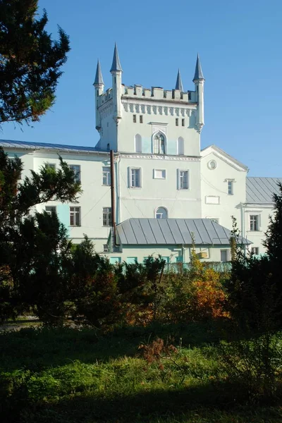
<path id="1" fill-rule="evenodd" d="M 26 142 L 14 140 L 0 140 L 0 147 L 19 149 L 54 149 L 59 151 L 73 152 L 102 152 L 97 147 L 81 147 L 80 145 L 51 144 L 49 142 Z M 109 153 L 109 152 L 108 152 Z"/>

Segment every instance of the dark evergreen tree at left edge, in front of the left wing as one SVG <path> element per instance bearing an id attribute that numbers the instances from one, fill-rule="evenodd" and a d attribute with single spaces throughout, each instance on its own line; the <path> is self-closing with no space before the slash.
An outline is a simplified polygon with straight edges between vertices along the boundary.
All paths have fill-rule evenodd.
<path id="1" fill-rule="evenodd" d="M 59 223 L 56 214 L 53 216 L 46 213 L 39 214 L 33 209 L 35 205 L 48 201 L 77 201 L 81 190 L 80 184 L 75 182 L 75 173 L 61 158 L 60 164 L 58 170 L 44 165 L 38 173 L 31 171 L 30 178 L 20 180 L 23 170 L 21 160 L 9 159 L 0 148 L 0 317 L 2 319 L 6 313 L 15 314 L 15 307 L 19 307 L 21 302 L 35 304 L 27 292 L 28 287 L 50 288 L 61 283 L 59 278 L 61 260 L 64 252 L 68 250 L 66 230 Z M 44 298 L 48 299 L 44 302 L 47 304 L 50 296 L 46 295 Z"/>

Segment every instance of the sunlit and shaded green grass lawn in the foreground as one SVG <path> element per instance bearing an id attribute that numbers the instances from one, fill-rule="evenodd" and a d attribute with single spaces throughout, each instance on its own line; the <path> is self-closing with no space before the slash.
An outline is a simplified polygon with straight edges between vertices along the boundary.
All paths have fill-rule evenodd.
<path id="1" fill-rule="evenodd" d="M 282 422 L 228 383 L 214 326 L 26 328 L 0 335 L 4 423 Z M 178 353 L 148 363 L 138 345 L 173 336 Z"/>

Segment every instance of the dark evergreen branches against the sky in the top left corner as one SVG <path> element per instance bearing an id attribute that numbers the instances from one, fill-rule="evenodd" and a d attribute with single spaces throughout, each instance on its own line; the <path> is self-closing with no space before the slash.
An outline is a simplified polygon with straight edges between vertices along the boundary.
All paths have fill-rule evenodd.
<path id="1" fill-rule="evenodd" d="M 51 39 L 37 9 L 38 0 L 0 0 L 0 125 L 39 121 L 54 104 L 69 41 L 61 27 Z"/>

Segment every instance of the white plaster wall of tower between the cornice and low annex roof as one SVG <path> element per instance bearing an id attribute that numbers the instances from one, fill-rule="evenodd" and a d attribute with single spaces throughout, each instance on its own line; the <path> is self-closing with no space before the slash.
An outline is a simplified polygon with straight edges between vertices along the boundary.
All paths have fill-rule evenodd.
<path id="1" fill-rule="evenodd" d="M 121 216 L 155 216 L 158 207 L 168 210 L 168 218 L 197 218 L 201 216 L 200 161 L 162 156 L 121 156 L 119 163 Z M 142 188 L 129 188 L 129 168 L 141 168 Z M 154 179 L 154 169 L 165 169 L 166 179 Z M 189 171 L 189 189 L 178 190 L 178 169 Z"/>

